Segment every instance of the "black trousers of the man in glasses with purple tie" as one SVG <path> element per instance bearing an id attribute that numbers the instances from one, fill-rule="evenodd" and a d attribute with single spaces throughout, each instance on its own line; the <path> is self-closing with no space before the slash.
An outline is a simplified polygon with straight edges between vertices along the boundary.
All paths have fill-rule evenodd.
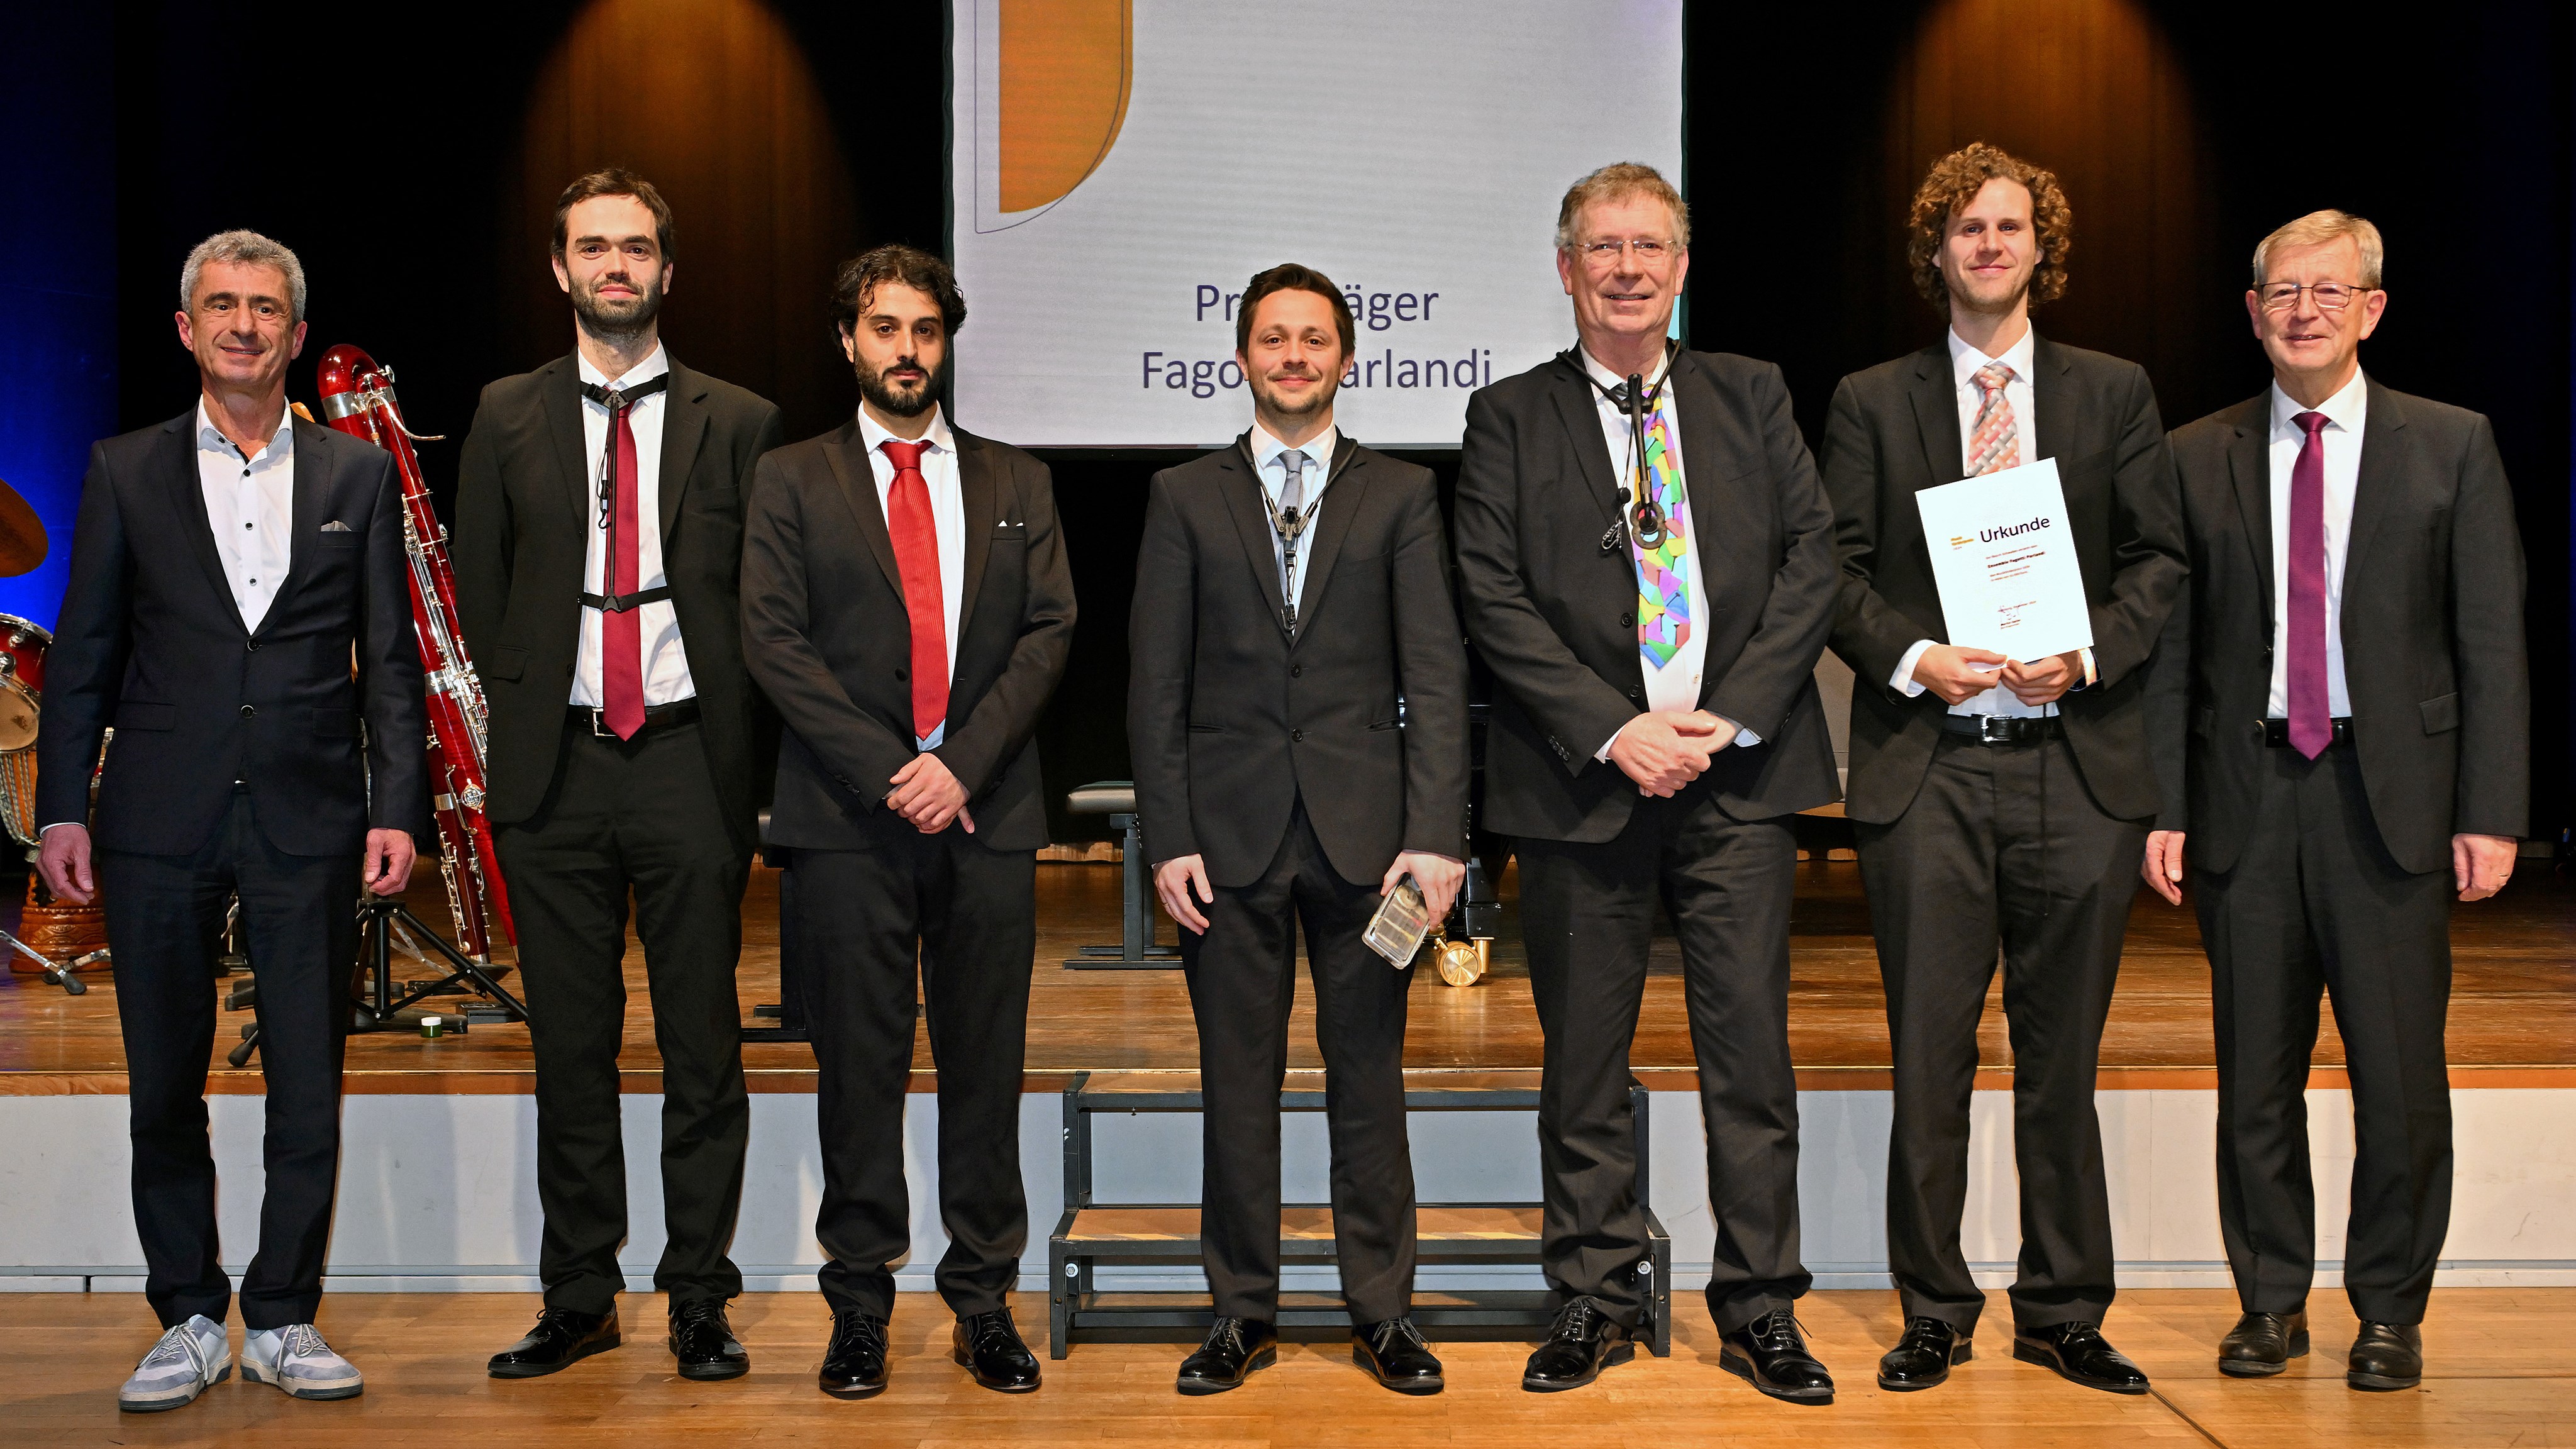
<path id="1" fill-rule="evenodd" d="M 2316 1276 L 2308 1057 L 2334 1000 L 2352 1078 L 2344 1294 L 2424 1323 L 2450 1232 L 2450 871 L 2388 856 L 2349 745 L 2264 750 L 2259 817 L 2226 871 L 2192 874 L 2218 1026 L 2218 1227 L 2246 1312 L 2298 1312 Z M 2190 853 L 2190 851 L 2184 851 Z"/>

